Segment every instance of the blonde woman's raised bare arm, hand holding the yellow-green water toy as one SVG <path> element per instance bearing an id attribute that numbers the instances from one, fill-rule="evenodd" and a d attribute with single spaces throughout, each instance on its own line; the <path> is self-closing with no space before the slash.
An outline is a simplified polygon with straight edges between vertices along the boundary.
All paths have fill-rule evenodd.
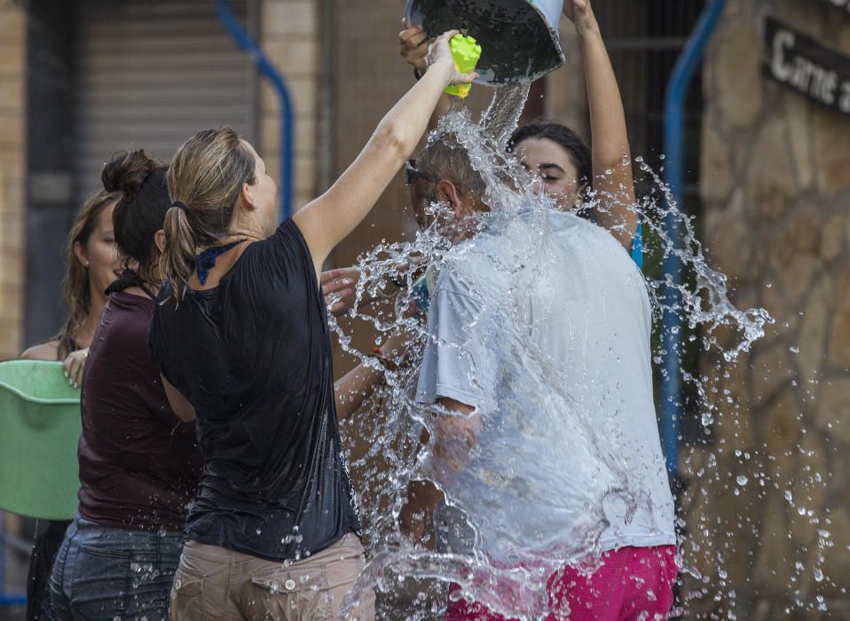
<path id="1" fill-rule="evenodd" d="M 317 273 L 331 250 L 366 217 L 411 156 L 445 87 L 476 78 L 476 74 L 460 74 L 454 68 L 448 40 L 456 34 L 453 30 L 437 38 L 430 46 L 428 73 L 383 117 L 342 177 L 293 216 L 310 248 Z"/>

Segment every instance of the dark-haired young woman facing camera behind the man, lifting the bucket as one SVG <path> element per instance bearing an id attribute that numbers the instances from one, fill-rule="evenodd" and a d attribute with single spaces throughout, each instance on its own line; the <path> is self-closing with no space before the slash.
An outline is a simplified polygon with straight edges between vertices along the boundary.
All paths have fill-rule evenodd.
<path id="1" fill-rule="evenodd" d="M 570 128 L 556 122 L 533 122 L 520 127 L 508 141 L 524 166 L 539 175 L 544 191 L 565 211 L 580 207 L 594 190 L 590 216 L 631 252 L 641 265 L 634 245 L 638 217 L 634 211 L 634 180 L 626 132 L 626 113 L 589 0 L 567 0 L 566 17 L 575 24 L 581 43 L 590 109 L 591 146 Z M 398 35 L 400 53 L 420 73 L 428 41 L 420 26 Z M 441 104 L 446 112 L 448 104 Z"/>

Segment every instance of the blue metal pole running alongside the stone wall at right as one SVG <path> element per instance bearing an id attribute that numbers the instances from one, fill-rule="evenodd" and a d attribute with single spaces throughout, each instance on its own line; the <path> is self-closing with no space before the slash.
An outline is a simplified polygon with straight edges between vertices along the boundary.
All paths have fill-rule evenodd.
<path id="1" fill-rule="evenodd" d="M 681 208 L 681 185 L 683 167 L 684 107 L 688 97 L 688 87 L 694 76 L 714 28 L 720 21 L 726 0 L 709 0 L 699 16 L 697 26 L 688 38 L 685 49 L 676 61 L 673 75 L 667 84 L 665 94 L 664 153 L 665 181 L 675 204 Z M 669 205 L 668 207 L 673 207 Z M 673 242 L 673 248 L 681 248 L 679 223 L 672 213 L 665 219 L 667 232 Z M 664 260 L 664 271 L 674 285 L 681 285 L 681 261 L 672 252 Z M 679 435 L 681 429 L 681 318 L 673 309 L 677 306 L 680 294 L 674 287 L 667 288 L 664 313 L 664 334 L 662 334 L 664 356 L 664 387 L 662 389 L 661 418 L 662 444 L 664 447 L 667 472 L 679 471 Z"/>

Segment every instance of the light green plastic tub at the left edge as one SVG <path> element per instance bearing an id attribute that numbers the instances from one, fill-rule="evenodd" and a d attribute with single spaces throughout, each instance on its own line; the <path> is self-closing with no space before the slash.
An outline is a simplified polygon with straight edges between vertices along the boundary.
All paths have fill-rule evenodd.
<path id="1" fill-rule="evenodd" d="M 80 431 L 80 390 L 68 384 L 61 363 L 0 362 L 0 509 L 73 518 Z"/>

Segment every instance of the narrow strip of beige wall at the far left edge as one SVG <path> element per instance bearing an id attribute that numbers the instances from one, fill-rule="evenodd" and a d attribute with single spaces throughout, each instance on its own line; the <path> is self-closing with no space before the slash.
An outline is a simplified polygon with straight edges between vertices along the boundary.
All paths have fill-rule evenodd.
<path id="1" fill-rule="evenodd" d="M 0 360 L 23 342 L 26 34 L 23 10 L 0 3 Z"/>

